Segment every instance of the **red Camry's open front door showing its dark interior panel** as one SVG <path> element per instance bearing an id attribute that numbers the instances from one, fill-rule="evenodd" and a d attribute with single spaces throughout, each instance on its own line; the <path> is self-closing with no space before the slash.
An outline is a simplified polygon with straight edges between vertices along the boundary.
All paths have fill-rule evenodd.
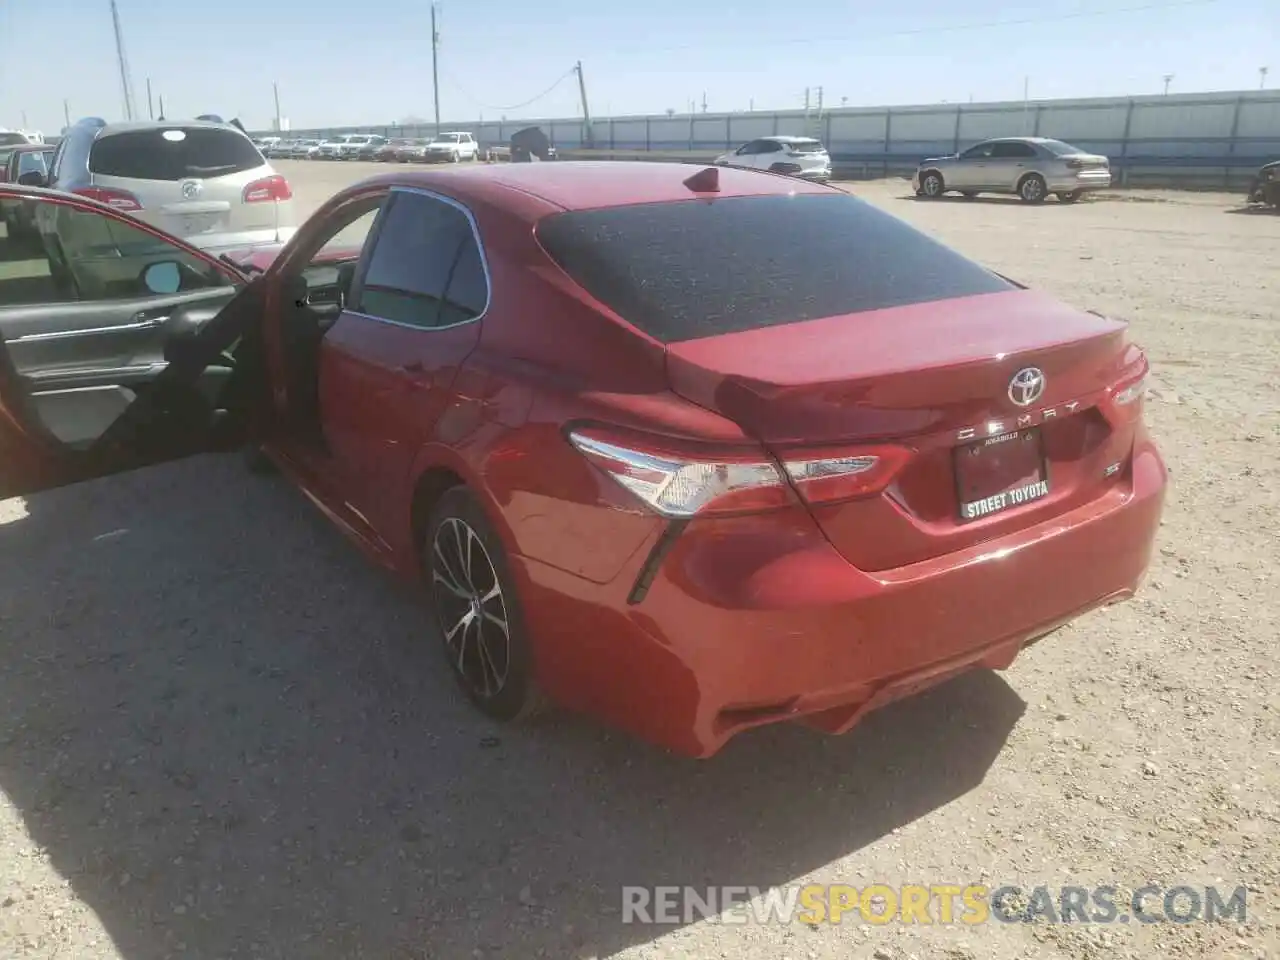
<path id="1" fill-rule="evenodd" d="M 124 214 L 0 184 L 0 497 L 242 444 L 260 300 Z"/>

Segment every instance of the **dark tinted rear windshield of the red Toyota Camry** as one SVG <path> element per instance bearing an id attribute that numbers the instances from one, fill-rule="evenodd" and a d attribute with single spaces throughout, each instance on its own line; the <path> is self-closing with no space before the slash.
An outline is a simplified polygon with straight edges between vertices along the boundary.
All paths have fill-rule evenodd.
<path id="1" fill-rule="evenodd" d="M 849 195 L 577 210 L 541 220 L 538 238 L 663 343 L 1015 289 Z"/>

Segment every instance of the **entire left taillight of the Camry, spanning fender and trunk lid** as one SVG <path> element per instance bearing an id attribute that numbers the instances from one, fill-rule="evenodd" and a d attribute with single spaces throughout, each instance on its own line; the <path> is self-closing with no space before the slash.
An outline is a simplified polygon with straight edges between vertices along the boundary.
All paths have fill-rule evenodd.
<path id="1" fill-rule="evenodd" d="M 758 448 L 703 449 L 664 438 L 581 428 L 570 442 L 613 480 L 664 517 L 753 513 L 837 503 L 879 493 L 911 452 L 904 447 L 804 449 L 781 462 Z M 790 483 L 788 483 L 790 481 Z"/>

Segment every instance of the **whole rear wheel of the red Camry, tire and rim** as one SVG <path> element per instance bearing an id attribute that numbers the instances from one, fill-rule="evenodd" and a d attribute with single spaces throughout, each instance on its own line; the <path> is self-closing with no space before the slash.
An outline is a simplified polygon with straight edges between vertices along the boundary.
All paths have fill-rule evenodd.
<path id="1" fill-rule="evenodd" d="M 545 707 L 506 550 L 465 486 L 447 490 L 421 532 L 422 576 L 453 680 L 484 714 L 504 723 Z"/>

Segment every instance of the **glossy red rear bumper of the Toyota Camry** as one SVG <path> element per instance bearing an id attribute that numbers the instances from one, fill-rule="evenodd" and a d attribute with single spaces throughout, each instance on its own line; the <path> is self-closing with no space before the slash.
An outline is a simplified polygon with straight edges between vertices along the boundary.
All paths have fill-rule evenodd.
<path id="1" fill-rule="evenodd" d="M 876 575 L 806 515 L 696 521 L 636 604 L 648 547 L 611 584 L 516 558 L 544 689 L 691 756 L 800 721 L 841 733 L 867 712 L 1130 596 L 1166 485 L 1149 440 L 1128 483 L 998 541 Z"/>

